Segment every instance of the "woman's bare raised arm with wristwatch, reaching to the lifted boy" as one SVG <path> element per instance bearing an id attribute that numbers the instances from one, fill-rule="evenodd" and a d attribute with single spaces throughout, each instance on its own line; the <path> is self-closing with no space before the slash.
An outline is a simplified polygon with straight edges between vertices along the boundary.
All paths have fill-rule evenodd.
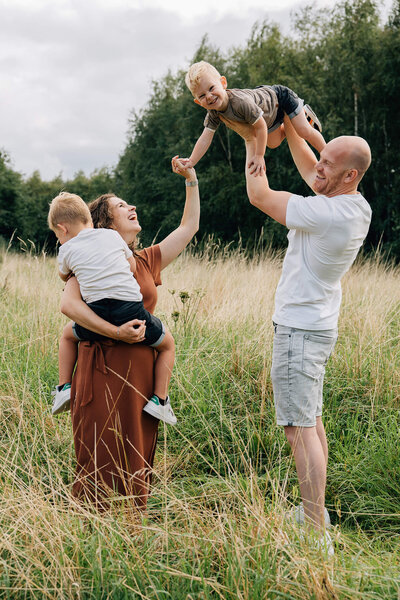
<path id="1" fill-rule="evenodd" d="M 186 185 L 186 201 L 183 209 L 181 224 L 160 242 L 161 269 L 164 269 L 186 248 L 194 234 L 199 229 L 200 221 L 200 196 L 196 171 L 185 169 L 184 163 L 177 156 L 172 159 L 172 170 L 174 173 L 183 175 Z"/>

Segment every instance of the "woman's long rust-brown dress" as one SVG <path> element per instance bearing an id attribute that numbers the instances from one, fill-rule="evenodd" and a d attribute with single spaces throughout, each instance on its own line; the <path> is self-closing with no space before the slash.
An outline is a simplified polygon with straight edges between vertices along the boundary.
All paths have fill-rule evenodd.
<path id="1" fill-rule="evenodd" d="M 136 256 L 143 303 L 157 303 L 158 245 Z M 155 352 L 143 344 L 81 342 L 71 391 L 77 460 L 73 494 L 102 504 L 106 496 L 133 496 L 146 506 L 159 421 L 143 413 L 153 394 Z"/>

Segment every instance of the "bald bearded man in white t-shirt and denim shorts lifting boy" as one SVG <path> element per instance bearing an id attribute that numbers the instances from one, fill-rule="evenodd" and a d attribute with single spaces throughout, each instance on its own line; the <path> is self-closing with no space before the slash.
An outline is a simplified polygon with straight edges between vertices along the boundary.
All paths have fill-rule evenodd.
<path id="1" fill-rule="evenodd" d="M 303 197 L 271 190 L 266 174 L 254 176 L 249 128 L 227 123 L 246 141 L 246 183 L 251 204 L 289 229 L 288 249 L 275 296 L 271 378 L 278 425 L 292 448 L 303 508 L 298 520 L 313 525 L 320 546 L 333 554 L 325 532 L 328 446 L 322 423 L 325 365 L 337 339 L 340 280 L 367 235 L 371 208 L 358 192 L 371 163 L 367 142 L 355 136 L 330 141 L 317 160 L 285 117 L 289 147 L 300 175 L 315 192 Z M 302 514 L 302 512 L 304 513 Z"/>

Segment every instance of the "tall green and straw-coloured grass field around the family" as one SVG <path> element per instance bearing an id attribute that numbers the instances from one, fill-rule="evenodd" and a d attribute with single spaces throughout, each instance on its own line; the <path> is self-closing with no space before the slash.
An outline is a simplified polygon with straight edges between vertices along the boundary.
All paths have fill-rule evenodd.
<path id="1" fill-rule="evenodd" d="M 325 560 L 285 519 L 299 490 L 269 377 L 280 268 L 210 246 L 164 272 L 179 425 L 160 429 L 139 519 L 71 497 L 69 416 L 50 414 L 62 283 L 54 258 L 0 253 L 0 598 L 400 598 L 400 270 L 360 260 L 343 281 Z"/>

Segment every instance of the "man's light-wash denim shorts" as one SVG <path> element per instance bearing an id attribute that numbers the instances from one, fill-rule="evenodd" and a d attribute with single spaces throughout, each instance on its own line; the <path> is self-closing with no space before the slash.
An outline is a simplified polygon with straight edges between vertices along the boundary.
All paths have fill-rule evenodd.
<path id="1" fill-rule="evenodd" d="M 337 330 L 307 331 L 274 323 L 271 379 L 278 425 L 314 427 L 322 415 L 325 365 Z"/>

